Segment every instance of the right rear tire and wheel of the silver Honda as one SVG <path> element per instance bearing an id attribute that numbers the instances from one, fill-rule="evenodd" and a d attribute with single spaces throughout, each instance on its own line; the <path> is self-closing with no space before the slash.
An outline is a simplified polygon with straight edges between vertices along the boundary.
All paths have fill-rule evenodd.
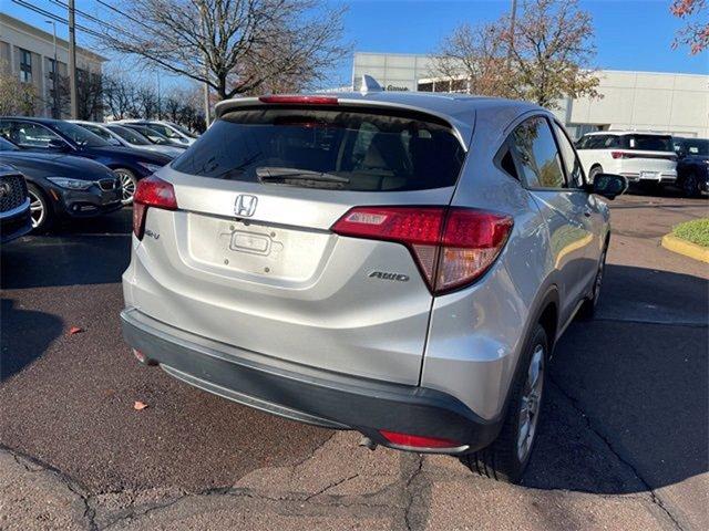
<path id="1" fill-rule="evenodd" d="M 538 433 L 548 348 L 546 332 L 541 324 L 536 324 L 520 358 L 520 369 L 512 384 L 500 435 L 489 447 L 461 457 L 473 473 L 510 483 L 522 480 Z M 527 426 L 527 437 L 522 441 L 524 426 Z"/>

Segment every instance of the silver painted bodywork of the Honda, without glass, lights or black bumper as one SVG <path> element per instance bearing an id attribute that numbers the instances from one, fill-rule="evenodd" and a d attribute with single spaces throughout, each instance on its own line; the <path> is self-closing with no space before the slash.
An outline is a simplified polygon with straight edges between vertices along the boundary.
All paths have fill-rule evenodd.
<path id="1" fill-rule="evenodd" d="M 181 174 L 178 211 L 148 209 L 123 275 L 125 303 L 189 333 L 304 366 L 446 392 L 484 419 L 504 409 L 532 321 L 549 290 L 557 329 L 589 293 L 608 232 L 604 201 L 580 190 L 535 191 L 494 157 L 533 105 L 461 95 L 337 94 L 341 105 L 408 108 L 445 119 L 467 150 L 456 187 L 331 192 Z M 217 115 L 258 105 L 222 102 Z M 253 195 L 251 218 L 234 215 Z M 366 205 L 453 205 L 504 212 L 513 232 L 472 285 L 432 296 L 401 244 L 339 237 L 329 229 Z M 395 272 L 407 282 L 370 278 Z"/>

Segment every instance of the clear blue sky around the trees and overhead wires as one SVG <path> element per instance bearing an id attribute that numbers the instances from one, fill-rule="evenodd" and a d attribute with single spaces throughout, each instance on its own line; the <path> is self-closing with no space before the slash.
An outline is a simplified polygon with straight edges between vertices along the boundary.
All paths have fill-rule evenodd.
<path id="1" fill-rule="evenodd" d="M 52 0 L 29 0 L 65 18 L 65 10 Z M 431 53 L 456 25 L 491 21 L 510 9 L 511 0 L 349 0 L 345 17 L 345 40 L 353 51 Z M 597 55 L 593 66 L 610 70 L 709 74 L 709 52 L 690 55 L 687 49 L 672 50 L 675 31 L 681 21 L 669 12 L 670 0 L 580 0 L 590 12 L 596 29 Z M 96 13 L 94 0 L 78 0 L 76 8 Z M 45 17 L 12 0 L 0 0 L 0 10 L 51 31 Z M 105 10 L 102 17 L 110 22 Z M 81 23 L 81 18 L 78 19 Z M 66 28 L 58 24 L 58 34 Z M 80 44 L 92 45 L 91 38 L 78 37 Z M 336 67 L 332 86 L 349 84 L 352 58 Z M 169 83 L 169 82 L 168 82 Z"/>

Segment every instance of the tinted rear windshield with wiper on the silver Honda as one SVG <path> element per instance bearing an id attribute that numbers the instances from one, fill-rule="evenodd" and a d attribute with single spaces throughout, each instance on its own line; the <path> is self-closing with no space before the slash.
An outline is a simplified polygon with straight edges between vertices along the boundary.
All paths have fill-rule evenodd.
<path id="1" fill-rule="evenodd" d="M 259 107 L 225 114 L 173 168 L 218 179 L 356 191 L 453 186 L 464 150 L 423 115 Z"/>

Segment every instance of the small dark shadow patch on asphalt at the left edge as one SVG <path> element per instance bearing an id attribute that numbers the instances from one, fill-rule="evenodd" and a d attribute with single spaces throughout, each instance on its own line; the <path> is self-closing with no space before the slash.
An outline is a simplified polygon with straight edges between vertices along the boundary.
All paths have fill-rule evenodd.
<path id="1" fill-rule="evenodd" d="M 61 335 L 63 321 L 49 313 L 20 310 L 11 299 L 0 303 L 0 382 L 4 382 L 44 354 Z"/>

